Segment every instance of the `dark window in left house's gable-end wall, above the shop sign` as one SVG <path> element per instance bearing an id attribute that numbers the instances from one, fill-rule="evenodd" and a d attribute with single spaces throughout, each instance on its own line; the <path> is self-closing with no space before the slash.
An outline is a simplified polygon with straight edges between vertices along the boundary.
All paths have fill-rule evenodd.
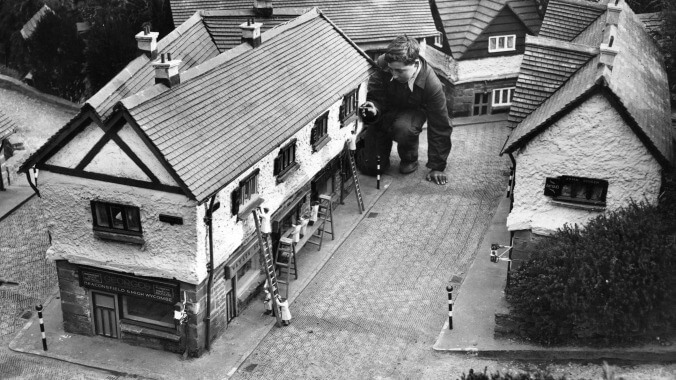
<path id="1" fill-rule="evenodd" d="M 141 234 L 139 208 L 115 203 L 92 201 L 94 229 Z"/>

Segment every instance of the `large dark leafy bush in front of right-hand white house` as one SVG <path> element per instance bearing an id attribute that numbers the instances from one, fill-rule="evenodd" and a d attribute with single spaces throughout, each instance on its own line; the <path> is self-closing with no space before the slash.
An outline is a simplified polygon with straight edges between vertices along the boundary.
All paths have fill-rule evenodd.
<path id="1" fill-rule="evenodd" d="M 543 344 L 607 344 L 671 331 L 675 236 L 673 202 L 632 203 L 538 241 L 507 288 L 520 333 Z"/>

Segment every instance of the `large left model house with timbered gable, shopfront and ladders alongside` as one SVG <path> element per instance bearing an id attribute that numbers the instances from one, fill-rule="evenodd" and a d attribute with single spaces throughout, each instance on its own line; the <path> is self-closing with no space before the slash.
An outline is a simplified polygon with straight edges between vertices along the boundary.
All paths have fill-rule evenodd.
<path id="1" fill-rule="evenodd" d="M 337 200 L 373 62 L 317 9 L 261 28 L 146 57 L 151 83 L 95 97 L 23 165 L 40 169 L 66 331 L 198 356 L 265 278 L 250 211 L 270 210 L 274 240 Z M 82 122 L 94 103 L 107 116 Z"/>

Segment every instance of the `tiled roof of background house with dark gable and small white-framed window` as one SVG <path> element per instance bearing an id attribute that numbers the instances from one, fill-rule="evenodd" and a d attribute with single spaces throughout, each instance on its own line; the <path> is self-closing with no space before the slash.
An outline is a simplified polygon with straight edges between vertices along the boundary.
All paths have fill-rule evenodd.
<path id="1" fill-rule="evenodd" d="M 504 7 L 511 9 L 533 34 L 540 29 L 534 0 L 437 0 L 453 58 L 460 59 Z"/>

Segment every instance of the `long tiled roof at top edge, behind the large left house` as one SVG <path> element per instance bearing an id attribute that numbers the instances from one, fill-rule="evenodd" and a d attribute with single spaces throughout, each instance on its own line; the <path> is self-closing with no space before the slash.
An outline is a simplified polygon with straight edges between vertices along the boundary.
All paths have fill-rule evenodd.
<path id="1" fill-rule="evenodd" d="M 389 42 L 394 37 L 430 37 L 437 34 L 428 0 L 277 0 L 277 8 L 318 7 L 357 44 Z M 171 0 L 174 24 L 195 11 L 253 8 L 253 0 Z"/>

